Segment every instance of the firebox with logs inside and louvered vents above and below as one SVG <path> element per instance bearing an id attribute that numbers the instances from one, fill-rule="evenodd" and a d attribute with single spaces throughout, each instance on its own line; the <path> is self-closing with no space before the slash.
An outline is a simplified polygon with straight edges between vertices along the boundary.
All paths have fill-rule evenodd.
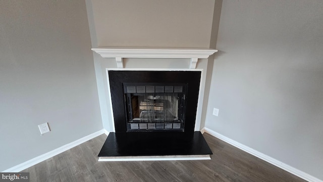
<path id="1" fill-rule="evenodd" d="M 185 83 L 123 83 L 127 131 L 184 131 Z"/>

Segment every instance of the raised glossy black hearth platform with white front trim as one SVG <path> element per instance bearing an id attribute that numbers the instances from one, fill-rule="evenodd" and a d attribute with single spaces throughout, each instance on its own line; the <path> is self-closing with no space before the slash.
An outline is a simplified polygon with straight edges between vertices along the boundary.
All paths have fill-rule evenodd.
<path id="1" fill-rule="evenodd" d="M 110 132 L 99 161 L 205 160 L 212 151 L 200 131 Z"/>

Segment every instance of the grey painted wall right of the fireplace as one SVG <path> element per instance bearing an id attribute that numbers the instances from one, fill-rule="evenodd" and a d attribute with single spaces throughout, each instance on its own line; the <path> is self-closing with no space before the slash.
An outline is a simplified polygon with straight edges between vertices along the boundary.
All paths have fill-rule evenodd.
<path id="1" fill-rule="evenodd" d="M 205 126 L 323 180 L 322 17 L 322 1 L 223 1 Z"/>

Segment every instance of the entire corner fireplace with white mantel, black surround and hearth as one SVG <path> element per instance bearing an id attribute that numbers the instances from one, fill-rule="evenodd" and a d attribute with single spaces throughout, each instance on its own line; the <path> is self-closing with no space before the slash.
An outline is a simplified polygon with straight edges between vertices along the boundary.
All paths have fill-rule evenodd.
<path id="1" fill-rule="evenodd" d="M 107 100 L 107 103 L 111 104 L 113 121 L 107 119 L 103 122 L 114 124 L 113 129 L 110 127 L 109 131 L 112 132 L 107 136 L 98 154 L 99 161 L 210 159 L 212 152 L 198 131 L 202 106 L 199 92 L 202 92 L 200 85 L 205 83 L 205 75 L 202 79 L 202 70 L 207 66 L 205 59 L 217 50 L 196 48 L 92 50 L 102 58 L 109 59 L 105 60 L 106 63 L 109 62 L 109 66 L 105 68 L 109 67 L 107 87 L 110 88 L 111 96 L 111 100 Z M 142 65 L 137 68 L 140 70 L 130 71 L 128 68 L 134 66 L 131 64 L 129 66 L 129 63 L 136 62 L 132 60 L 133 58 L 144 58 L 145 61 L 147 58 L 149 61 L 160 58 L 157 65 L 160 66 L 160 62 L 165 62 L 161 64 L 161 68 L 168 71 L 153 71 L 150 69 L 151 65 L 145 65 L 143 63 L 145 61 L 140 59 L 137 60 Z M 180 70 L 172 69 L 171 62 L 177 61 L 175 59 L 189 59 L 189 69 L 184 70 L 183 66 Z M 199 65 L 199 67 L 202 65 L 203 69 L 196 69 L 199 59 L 204 59 Z M 128 68 L 124 69 L 126 67 Z M 145 68 L 147 70 L 143 70 Z M 203 87 L 201 88 L 203 90 Z"/>

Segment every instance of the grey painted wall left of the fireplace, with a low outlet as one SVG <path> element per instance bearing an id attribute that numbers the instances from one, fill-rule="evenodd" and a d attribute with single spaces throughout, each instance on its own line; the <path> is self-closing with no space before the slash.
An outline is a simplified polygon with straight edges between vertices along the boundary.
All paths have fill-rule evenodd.
<path id="1" fill-rule="evenodd" d="M 83 1 L 0 2 L 0 171 L 102 129 Z M 38 124 L 50 132 L 40 135 Z"/>

